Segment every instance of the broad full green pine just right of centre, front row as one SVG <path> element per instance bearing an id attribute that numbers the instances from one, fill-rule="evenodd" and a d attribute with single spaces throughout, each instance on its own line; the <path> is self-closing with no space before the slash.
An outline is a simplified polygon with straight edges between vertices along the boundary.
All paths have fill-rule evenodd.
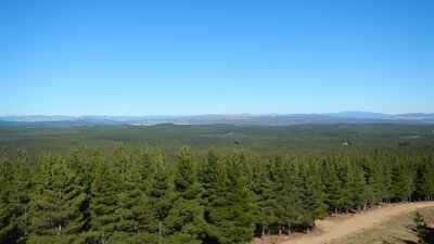
<path id="1" fill-rule="evenodd" d="M 208 234 L 217 243 L 245 243 L 253 236 L 256 206 L 246 167 L 244 152 L 232 152 L 225 160 L 209 207 Z"/>

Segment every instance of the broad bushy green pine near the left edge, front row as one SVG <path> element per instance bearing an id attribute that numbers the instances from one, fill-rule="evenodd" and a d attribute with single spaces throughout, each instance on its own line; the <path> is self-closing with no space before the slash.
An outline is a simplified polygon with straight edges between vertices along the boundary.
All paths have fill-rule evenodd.
<path id="1" fill-rule="evenodd" d="M 66 160 L 51 155 L 40 158 L 31 197 L 31 235 L 28 243 L 86 242 L 80 235 L 85 220 L 80 207 L 86 194 Z"/>

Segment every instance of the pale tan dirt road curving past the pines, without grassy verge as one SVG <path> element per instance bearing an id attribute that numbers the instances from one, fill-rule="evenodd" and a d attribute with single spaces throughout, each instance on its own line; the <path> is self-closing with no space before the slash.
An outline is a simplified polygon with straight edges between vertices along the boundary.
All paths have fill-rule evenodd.
<path id="1" fill-rule="evenodd" d="M 346 217 L 331 217 L 317 221 L 317 233 L 309 233 L 299 239 L 283 242 L 282 244 L 326 244 L 357 232 L 374 228 L 390 218 L 416 211 L 419 208 L 434 207 L 434 202 L 396 204 L 379 207 L 374 210 Z"/>

